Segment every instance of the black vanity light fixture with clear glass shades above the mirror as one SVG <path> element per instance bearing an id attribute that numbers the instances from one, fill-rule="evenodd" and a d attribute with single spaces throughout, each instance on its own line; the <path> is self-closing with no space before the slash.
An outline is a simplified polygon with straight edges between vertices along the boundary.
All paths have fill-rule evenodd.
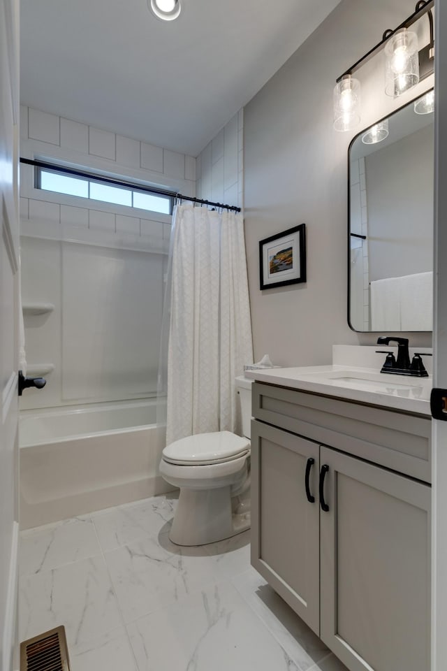
<path id="1" fill-rule="evenodd" d="M 382 49 L 384 49 L 386 55 L 385 92 L 387 95 L 400 96 L 433 73 L 433 6 L 434 0 L 419 0 L 411 16 L 394 30 L 386 30 L 379 44 L 376 44 L 365 56 L 362 56 L 339 76 L 334 89 L 334 129 L 336 131 L 351 131 L 360 122 L 360 82 L 353 79 L 352 75 Z M 430 21 L 430 41 L 419 50 L 416 33 L 408 29 L 425 14 Z M 355 90 L 352 82 L 356 82 Z M 344 99 L 342 99 L 342 96 L 345 96 Z M 358 105 L 358 107 L 355 108 L 355 105 Z M 351 112 L 353 109 L 355 109 L 355 113 Z"/>

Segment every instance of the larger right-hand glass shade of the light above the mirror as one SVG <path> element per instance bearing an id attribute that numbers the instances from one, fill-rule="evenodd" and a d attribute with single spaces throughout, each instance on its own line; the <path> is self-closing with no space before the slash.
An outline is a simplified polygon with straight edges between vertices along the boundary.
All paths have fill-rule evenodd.
<path id="1" fill-rule="evenodd" d="M 418 36 L 406 28 L 390 37 L 385 45 L 385 93 L 402 95 L 419 81 Z"/>

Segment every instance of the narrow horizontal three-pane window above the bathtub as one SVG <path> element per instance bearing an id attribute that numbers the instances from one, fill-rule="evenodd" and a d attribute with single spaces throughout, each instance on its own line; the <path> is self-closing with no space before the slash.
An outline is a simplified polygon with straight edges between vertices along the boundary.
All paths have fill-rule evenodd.
<path id="1" fill-rule="evenodd" d="M 170 215 L 174 196 L 78 171 L 36 168 L 36 189 Z"/>

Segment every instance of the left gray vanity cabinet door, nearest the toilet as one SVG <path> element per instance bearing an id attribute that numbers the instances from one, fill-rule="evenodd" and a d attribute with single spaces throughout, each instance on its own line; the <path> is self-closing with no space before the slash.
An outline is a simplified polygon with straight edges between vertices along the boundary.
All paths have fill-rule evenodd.
<path id="1" fill-rule="evenodd" d="M 318 444 L 253 421 L 251 473 L 251 563 L 318 634 Z"/>

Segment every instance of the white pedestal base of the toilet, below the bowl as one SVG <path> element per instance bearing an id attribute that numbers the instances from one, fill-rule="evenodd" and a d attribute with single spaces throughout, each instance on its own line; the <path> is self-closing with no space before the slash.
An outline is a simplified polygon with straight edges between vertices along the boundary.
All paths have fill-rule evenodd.
<path id="1" fill-rule="evenodd" d="M 169 539 L 177 545 L 206 545 L 250 528 L 250 513 L 233 514 L 231 486 L 180 489 Z"/>

